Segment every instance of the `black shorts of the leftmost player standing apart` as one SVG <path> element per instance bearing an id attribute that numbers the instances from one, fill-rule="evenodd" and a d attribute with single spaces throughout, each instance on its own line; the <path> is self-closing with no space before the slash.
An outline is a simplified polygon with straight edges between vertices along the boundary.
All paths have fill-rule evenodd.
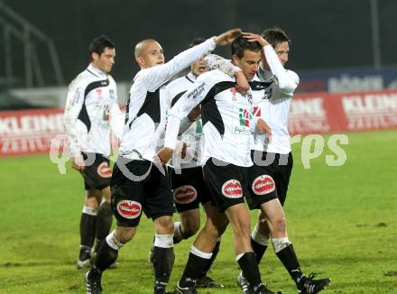
<path id="1" fill-rule="evenodd" d="M 84 187 L 86 190 L 101 190 L 110 185 L 112 178 L 112 170 L 110 170 L 109 159 L 99 153 L 84 153 L 83 159 L 88 163 L 86 168 L 81 172 L 84 179 Z M 89 164 L 94 159 L 92 164 Z"/>

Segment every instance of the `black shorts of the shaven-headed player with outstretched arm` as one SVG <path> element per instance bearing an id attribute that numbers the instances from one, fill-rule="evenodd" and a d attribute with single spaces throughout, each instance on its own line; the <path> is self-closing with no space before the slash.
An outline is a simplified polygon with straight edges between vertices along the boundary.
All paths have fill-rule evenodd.
<path id="1" fill-rule="evenodd" d="M 165 167 L 163 171 L 151 161 L 117 159 L 110 184 L 117 225 L 137 226 L 142 211 L 153 220 L 173 215 L 171 177 Z"/>

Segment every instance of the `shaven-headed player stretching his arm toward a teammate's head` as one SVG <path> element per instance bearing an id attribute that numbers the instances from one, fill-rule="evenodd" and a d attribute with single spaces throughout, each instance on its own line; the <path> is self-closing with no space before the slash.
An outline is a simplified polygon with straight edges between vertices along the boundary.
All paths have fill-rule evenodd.
<path id="1" fill-rule="evenodd" d="M 167 63 L 157 41 L 148 39 L 136 44 L 134 55 L 141 70 L 135 75 L 130 90 L 120 156 L 111 180 L 112 209 L 117 225 L 115 231 L 107 235 L 106 242 L 101 243 L 97 259 L 85 276 L 87 293 L 101 293 L 103 271 L 115 262 L 118 250 L 134 238 L 142 212 L 152 218 L 155 228 L 154 293 L 168 293 L 166 286 L 174 261 L 174 207 L 170 175 L 157 160 L 155 140 L 158 124 L 167 111 L 163 85 L 217 45 L 233 41 L 238 32 L 241 30 L 209 38 Z"/>

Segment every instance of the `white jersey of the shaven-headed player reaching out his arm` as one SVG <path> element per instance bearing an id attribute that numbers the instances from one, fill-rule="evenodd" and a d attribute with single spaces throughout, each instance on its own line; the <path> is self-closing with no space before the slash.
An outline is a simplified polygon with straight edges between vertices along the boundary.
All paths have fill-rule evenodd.
<path id="1" fill-rule="evenodd" d="M 168 109 L 163 85 L 192 62 L 214 50 L 215 46 L 214 38 L 210 38 L 182 51 L 165 64 L 141 69 L 136 74 L 126 109 L 121 156 L 132 160 L 153 161 L 162 147 L 159 146 L 155 133 Z"/>

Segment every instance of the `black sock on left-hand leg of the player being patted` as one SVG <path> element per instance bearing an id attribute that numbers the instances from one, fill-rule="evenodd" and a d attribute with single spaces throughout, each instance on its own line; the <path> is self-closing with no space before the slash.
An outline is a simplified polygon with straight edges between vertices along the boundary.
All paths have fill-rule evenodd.
<path id="1" fill-rule="evenodd" d="M 209 261 L 210 259 L 202 258 L 196 254 L 189 253 L 189 259 L 186 263 L 185 271 L 183 271 L 182 277 L 180 278 L 180 287 L 194 287 L 196 281 L 202 275 Z"/>

